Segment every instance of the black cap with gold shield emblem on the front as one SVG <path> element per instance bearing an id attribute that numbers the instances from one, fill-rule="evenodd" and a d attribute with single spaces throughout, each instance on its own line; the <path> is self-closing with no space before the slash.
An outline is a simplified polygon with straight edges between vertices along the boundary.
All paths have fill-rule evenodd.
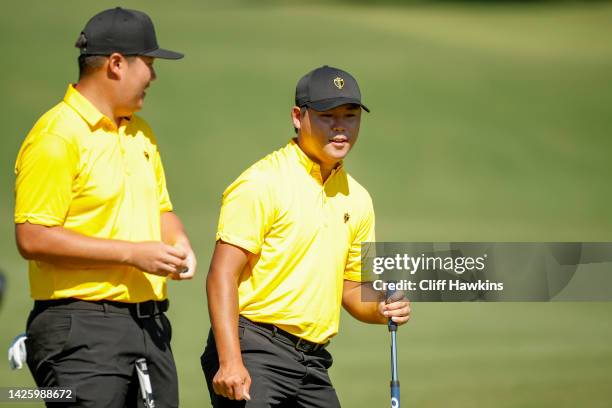
<path id="1" fill-rule="evenodd" d="M 324 65 L 314 69 L 304 75 L 295 87 L 295 104 L 300 108 L 323 112 L 349 103 L 370 111 L 361 103 L 361 91 L 355 78 L 339 68 Z"/>

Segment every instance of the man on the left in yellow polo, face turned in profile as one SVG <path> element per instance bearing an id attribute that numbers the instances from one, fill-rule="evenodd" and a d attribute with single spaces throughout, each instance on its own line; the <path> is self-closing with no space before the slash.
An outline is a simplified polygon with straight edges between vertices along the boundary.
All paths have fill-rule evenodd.
<path id="1" fill-rule="evenodd" d="M 80 34 L 79 81 L 26 137 L 15 165 L 17 246 L 34 308 L 27 363 L 79 407 L 136 406 L 146 359 L 157 407 L 178 406 L 166 280 L 196 261 L 172 212 L 157 143 L 134 113 L 155 79 L 150 18 L 115 8 Z"/>

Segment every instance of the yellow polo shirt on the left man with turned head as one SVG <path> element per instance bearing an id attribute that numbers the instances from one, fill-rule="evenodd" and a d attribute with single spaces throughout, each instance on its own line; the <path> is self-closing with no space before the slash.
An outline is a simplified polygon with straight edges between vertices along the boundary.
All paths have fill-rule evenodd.
<path id="1" fill-rule="evenodd" d="M 97 238 L 161 241 L 171 211 L 157 143 L 138 116 L 119 126 L 72 85 L 26 137 L 15 165 L 15 223 Z M 128 266 L 65 269 L 29 262 L 34 299 L 142 302 L 166 298 L 166 278 Z"/>

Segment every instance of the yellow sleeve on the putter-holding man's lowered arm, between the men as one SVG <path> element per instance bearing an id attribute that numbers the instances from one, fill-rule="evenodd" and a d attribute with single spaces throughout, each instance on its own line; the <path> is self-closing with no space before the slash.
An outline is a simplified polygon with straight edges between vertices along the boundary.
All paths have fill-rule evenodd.
<path id="1" fill-rule="evenodd" d="M 258 254 L 274 222 L 274 203 L 263 177 L 240 176 L 223 193 L 216 239 Z"/>

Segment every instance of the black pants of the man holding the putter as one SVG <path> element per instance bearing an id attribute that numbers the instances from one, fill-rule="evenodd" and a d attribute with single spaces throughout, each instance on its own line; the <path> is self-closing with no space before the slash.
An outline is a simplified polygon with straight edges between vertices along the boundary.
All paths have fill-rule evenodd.
<path id="1" fill-rule="evenodd" d="M 201 362 L 213 407 L 340 407 L 327 374 L 333 361 L 327 350 L 304 353 L 244 318 L 238 324 L 242 360 L 252 380 L 251 401 L 232 401 L 213 391 L 212 379 L 219 370 L 219 357 L 211 330 Z"/>

